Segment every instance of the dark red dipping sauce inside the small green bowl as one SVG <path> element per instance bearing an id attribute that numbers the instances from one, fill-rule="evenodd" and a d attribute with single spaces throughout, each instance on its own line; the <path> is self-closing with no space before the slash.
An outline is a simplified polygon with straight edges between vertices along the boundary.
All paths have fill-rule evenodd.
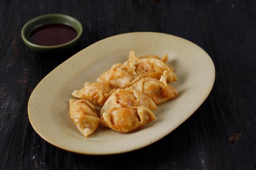
<path id="1" fill-rule="evenodd" d="M 34 29 L 29 41 L 42 46 L 65 44 L 76 38 L 77 32 L 72 26 L 65 24 L 48 24 Z"/>

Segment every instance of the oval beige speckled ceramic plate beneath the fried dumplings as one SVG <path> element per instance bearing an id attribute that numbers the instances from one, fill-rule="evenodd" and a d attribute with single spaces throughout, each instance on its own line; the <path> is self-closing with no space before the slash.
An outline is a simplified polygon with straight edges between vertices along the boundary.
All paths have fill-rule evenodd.
<path id="1" fill-rule="evenodd" d="M 154 110 L 157 120 L 141 130 L 122 134 L 99 128 L 85 138 L 69 117 L 70 93 L 95 82 L 112 64 L 136 55 L 168 54 L 178 81 L 171 83 L 179 97 Z M 188 40 L 164 33 L 138 32 L 115 35 L 96 42 L 70 57 L 49 73 L 34 89 L 28 115 L 34 130 L 50 144 L 67 151 L 106 155 L 136 150 L 166 136 L 188 119 L 207 98 L 215 79 L 209 55 Z"/>

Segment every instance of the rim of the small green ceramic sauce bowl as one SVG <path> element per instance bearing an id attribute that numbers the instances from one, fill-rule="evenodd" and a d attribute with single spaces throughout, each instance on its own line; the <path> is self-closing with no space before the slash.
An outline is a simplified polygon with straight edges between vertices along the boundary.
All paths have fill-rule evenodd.
<path id="1" fill-rule="evenodd" d="M 34 44 L 34 43 L 30 42 L 25 36 L 25 30 L 27 29 L 27 26 L 29 26 L 29 24 L 32 24 L 33 22 L 35 22 L 39 19 L 48 18 L 48 17 L 52 17 L 52 16 L 71 18 L 72 20 L 74 20 L 78 24 L 78 28 L 79 28 L 78 31 L 77 31 L 76 37 L 73 40 L 69 41 L 69 42 L 66 42 L 64 44 L 55 45 L 55 46 L 42 46 L 42 45 L 38 45 L 38 44 Z M 72 26 L 72 25 L 70 24 L 69 26 Z M 72 26 L 72 27 L 74 28 L 74 26 Z M 76 18 L 74 18 L 70 15 L 65 15 L 65 14 L 60 14 L 60 13 L 51 13 L 51 14 L 45 14 L 45 15 L 40 15 L 38 17 L 35 17 L 35 18 L 29 20 L 21 29 L 21 37 L 22 37 L 23 42 L 27 46 L 32 46 L 32 47 L 37 48 L 37 49 L 57 49 L 59 47 L 67 46 L 67 45 L 72 44 L 72 43 L 76 42 L 77 40 L 79 40 L 82 33 L 83 33 L 83 26 L 82 26 L 82 24 L 79 20 L 77 20 Z"/>

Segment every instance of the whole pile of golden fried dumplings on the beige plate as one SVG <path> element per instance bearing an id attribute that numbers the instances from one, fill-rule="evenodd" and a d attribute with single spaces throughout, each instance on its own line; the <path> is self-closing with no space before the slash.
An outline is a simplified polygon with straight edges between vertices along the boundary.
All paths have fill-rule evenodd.
<path id="1" fill-rule="evenodd" d="M 78 130 L 85 137 L 99 125 L 127 133 L 154 121 L 152 110 L 178 96 L 168 84 L 177 77 L 167 60 L 167 55 L 137 57 L 131 51 L 128 61 L 114 64 L 97 82 L 75 90 L 71 95 L 78 99 L 70 99 L 70 118 Z M 94 105 L 102 107 L 99 114 Z"/>

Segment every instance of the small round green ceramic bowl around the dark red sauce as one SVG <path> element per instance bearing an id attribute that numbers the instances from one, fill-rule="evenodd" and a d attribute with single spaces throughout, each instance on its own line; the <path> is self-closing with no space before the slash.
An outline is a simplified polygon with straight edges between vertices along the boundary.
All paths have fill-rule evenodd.
<path id="1" fill-rule="evenodd" d="M 46 24 L 66 24 L 66 25 L 72 26 L 76 30 L 77 36 L 70 42 L 56 45 L 56 46 L 42 46 L 42 45 L 37 45 L 30 42 L 28 39 L 30 33 L 34 29 Z M 79 20 L 76 20 L 76 18 L 73 18 L 68 15 L 63 15 L 63 14 L 47 14 L 47 15 L 38 16 L 30 20 L 29 22 L 27 22 L 21 30 L 21 37 L 23 42 L 26 44 L 26 46 L 33 51 L 58 52 L 58 51 L 69 49 L 70 47 L 74 46 L 77 42 L 79 42 L 82 32 L 83 32 L 82 24 L 79 22 Z"/>

